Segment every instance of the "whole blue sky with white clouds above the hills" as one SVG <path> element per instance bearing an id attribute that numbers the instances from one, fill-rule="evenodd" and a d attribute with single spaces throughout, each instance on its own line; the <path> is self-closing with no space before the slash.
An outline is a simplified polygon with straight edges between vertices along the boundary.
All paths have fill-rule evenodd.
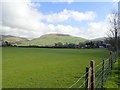
<path id="1" fill-rule="evenodd" d="M 105 37 L 114 2 L 0 2 L 0 32 L 27 38 L 57 33 L 93 39 Z"/>

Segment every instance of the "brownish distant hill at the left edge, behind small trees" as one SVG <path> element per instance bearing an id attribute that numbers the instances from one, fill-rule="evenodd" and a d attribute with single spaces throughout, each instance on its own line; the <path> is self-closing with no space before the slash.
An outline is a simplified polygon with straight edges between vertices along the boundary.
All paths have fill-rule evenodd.
<path id="1" fill-rule="evenodd" d="M 21 44 L 23 42 L 29 41 L 29 39 L 12 35 L 0 35 L 0 41 L 8 41 L 11 44 Z"/>

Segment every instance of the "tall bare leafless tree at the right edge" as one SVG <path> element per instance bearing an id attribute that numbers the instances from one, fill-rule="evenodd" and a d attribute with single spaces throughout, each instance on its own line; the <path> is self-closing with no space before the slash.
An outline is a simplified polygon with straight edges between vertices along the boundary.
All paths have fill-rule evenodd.
<path id="1" fill-rule="evenodd" d="M 108 33 L 108 38 L 106 39 L 106 42 L 111 44 L 113 49 L 115 51 L 118 50 L 118 40 L 120 34 L 119 34 L 119 13 L 117 10 L 113 10 L 112 13 L 109 16 L 109 22 L 110 22 L 110 28 Z"/>

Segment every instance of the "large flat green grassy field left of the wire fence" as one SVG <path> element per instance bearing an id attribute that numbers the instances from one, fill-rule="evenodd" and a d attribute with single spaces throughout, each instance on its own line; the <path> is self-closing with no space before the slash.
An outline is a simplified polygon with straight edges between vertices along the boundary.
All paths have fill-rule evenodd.
<path id="1" fill-rule="evenodd" d="M 90 60 L 109 55 L 101 49 L 3 48 L 3 88 L 68 88 Z M 78 88 L 80 83 L 74 87 Z"/>

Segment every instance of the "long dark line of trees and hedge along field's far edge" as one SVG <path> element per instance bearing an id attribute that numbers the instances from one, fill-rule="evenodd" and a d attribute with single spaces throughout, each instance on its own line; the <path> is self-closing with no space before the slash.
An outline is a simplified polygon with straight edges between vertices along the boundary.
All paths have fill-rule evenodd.
<path id="1" fill-rule="evenodd" d="M 37 46 L 37 45 L 28 45 L 28 46 L 17 46 L 12 45 L 10 42 L 5 41 L 2 42 L 3 47 L 35 47 L 35 48 L 109 48 L 109 46 L 104 43 L 104 41 L 85 41 L 80 42 L 79 44 L 74 43 L 62 43 L 57 42 L 52 46 L 46 45 L 46 46 Z"/>

